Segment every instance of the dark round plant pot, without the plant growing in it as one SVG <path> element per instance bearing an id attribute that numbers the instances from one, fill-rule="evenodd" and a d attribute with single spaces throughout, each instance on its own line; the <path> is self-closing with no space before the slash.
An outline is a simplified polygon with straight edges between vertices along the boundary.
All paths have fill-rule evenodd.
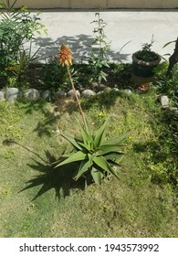
<path id="1" fill-rule="evenodd" d="M 138 51 L 132 55 L 132 79 L 134 81 L 148 82 L 154 79 L 153 69 L 160 63 L 161 57 L 155 52 L 152 53 L 155 55 L 152 61 L 138 59 Z"/>

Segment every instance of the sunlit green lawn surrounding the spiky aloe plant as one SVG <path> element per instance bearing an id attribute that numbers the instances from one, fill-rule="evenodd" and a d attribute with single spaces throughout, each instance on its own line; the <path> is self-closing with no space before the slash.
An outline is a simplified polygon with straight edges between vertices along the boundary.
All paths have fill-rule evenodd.
<path id="1" fill-rule="evenodd" d="M 55 116 L 49 103 L 0 102 L 0 237 L 178 236 L 175 191 L 151 167 L 153 152 L 172 157 L 155 92 L 100 97 L 82 102 L 92 129 L 110 114 L 108 136 L 131 132 L 120 180 L 86 189 L 75 165 L 52 164 L 71 149 L 58 129 L 79 135 L 76 108 Z"/>

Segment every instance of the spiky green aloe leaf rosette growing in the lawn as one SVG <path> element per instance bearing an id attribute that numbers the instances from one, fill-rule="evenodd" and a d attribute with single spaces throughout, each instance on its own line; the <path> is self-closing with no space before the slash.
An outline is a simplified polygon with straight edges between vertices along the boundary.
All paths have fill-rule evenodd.
<path id="1" fill-rule="evenodd" d="M 118 158 L 124 153 L 120 150 L 119 145 L 126 138 L 127 134 L 107 140 L 106 128 L 109 119 L 103 123 L 95 135 L 89 131 L 89 126 L 88 131 L 86 131 L 78 120 L 77 122 L 82 135 L 81 140 L 61 133 L 61 135 L 74 146 L 77 152 L 65 155 L 66 159 L 60 162 L 56 167 L 79 162 L 79 169 L 74 178 L 78 180 L 81 176 L 85 177 L 86 185 L 89 184 L 90 178 L 92 178 L 96 184 L 101 184 L 102 180 L 110 175 L 119 178 L 114 165 L 120 166 Z"/>

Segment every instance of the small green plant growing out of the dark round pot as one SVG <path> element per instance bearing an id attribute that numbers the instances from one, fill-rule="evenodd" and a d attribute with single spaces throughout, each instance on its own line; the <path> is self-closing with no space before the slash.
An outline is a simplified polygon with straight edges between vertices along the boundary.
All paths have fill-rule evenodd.
<path id="1" fill-rule="evenodd" d="M 136 54 L 137 59 L 142 60 L 142 61 L 154 61 L 158 59 L 158 55 L 152 51 L 152 45 L 154 43 L 153 40 L 153 35 L 152 35 L 152 40 L 151 43 L 145 43 L 142 45 L 141 50 L 139 50 Z"/>

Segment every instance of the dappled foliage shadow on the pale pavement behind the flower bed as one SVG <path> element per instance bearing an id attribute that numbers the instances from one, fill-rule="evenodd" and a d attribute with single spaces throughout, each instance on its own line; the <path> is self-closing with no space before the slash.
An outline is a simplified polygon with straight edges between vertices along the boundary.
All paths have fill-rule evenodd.
<path id="1" fill-rule="evenodd" d="M 80 34 L 76 37 L 58 37 L 53 40 L 52 37 L 37 37 L 34 42 L 35 48 L 39 48 L 37 55 L 39 58 L 36 62 L 48 63 L 58 54 L 58 48 L 62 43 L 66 44 L 72 51 L 72 56 L 75 63 L 85 63 L 91 50 L 91 43 L 94 38 L 88 35 Z M 115 52 L 109 50 L 109 59 L 111 62 L 125 62 L 128 60 L 129 54 L 121 54 L 120 51 Z"/>

